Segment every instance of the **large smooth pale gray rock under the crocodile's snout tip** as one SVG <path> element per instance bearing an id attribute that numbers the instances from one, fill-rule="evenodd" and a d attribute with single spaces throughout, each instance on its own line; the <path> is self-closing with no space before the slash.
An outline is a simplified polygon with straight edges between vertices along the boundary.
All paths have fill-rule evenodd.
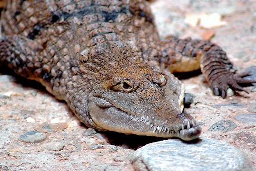
<path id="1" fill-rule="evenodd" d="M 132 165 L 136 171 L 253 171 L 234 146 L 208 138 L 147 144 L 134 153 Z"/>

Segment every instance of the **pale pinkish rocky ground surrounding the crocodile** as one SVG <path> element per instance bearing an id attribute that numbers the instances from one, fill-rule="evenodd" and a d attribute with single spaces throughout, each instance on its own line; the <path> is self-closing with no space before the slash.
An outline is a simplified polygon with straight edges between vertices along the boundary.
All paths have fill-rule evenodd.
<path id="1" fill-rule="evenodd" d="M 213 37 L 238 69 L 256 65 L 255 0 L 156 0 L 151 7 L 162 37 Z M 213 12 L 222 16 L 216 26 L 186 20 Z M 236 146 L 256 168 L 256 85 L 246 88 L 249 95 L 222 99 L 193 75 L 182 80 L 196 95 L 185 110 L 202 124 L 201 137 Z M 0 74 L 0 171 L 133 171 L 135 150 L 159 140 L 95 132 L 41 85 Z"/>

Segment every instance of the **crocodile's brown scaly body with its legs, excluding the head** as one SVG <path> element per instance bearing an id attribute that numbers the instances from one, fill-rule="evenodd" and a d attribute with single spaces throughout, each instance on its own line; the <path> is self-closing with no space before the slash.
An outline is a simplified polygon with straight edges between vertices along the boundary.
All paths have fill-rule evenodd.
<path id="1" fill-rule="evenodd" d="M 45 85 L 87 125 L 92 123 L 85 97 L 92 88 L 136 63 L 171 72 L 201 64 L 216 95 L 225 97 L 228 87 L 242 90 L 217 45 L 161 41 L 145 0 L 8 0 L 1 26 L 0 65 Z"/>

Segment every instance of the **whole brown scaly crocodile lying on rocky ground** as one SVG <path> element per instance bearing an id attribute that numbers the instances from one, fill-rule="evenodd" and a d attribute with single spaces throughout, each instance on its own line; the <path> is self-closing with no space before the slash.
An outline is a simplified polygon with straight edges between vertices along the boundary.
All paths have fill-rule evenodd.
<path id="1" fill-rule="evenodd" d="M 226 52 L 210 41 L 161 39 L 146 0 L 8 0 L 0 66 L 36 80 L 86 126 L 126 134 L 199 137 L 173 75 L 201 68 L 214 95 L 245 91 Z"/>

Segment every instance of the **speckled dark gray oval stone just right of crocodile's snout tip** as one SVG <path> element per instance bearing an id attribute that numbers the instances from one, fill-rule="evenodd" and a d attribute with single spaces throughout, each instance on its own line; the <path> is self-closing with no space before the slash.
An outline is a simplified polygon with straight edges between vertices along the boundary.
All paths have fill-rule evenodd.
<path id="1" fill-rule="evenodd" d="M 209 131 L 227 132 L 227 131 L 231 131 L 235 128 L 236 128 L 236 123 L 234 123 L 233 121 L 227 120 L 227 119 L 223 119 L 223 120 L 220 120 L 220 121 L 214 123 L 213 125 L 211 125 L 211 127 L 209 128 Z"/>

